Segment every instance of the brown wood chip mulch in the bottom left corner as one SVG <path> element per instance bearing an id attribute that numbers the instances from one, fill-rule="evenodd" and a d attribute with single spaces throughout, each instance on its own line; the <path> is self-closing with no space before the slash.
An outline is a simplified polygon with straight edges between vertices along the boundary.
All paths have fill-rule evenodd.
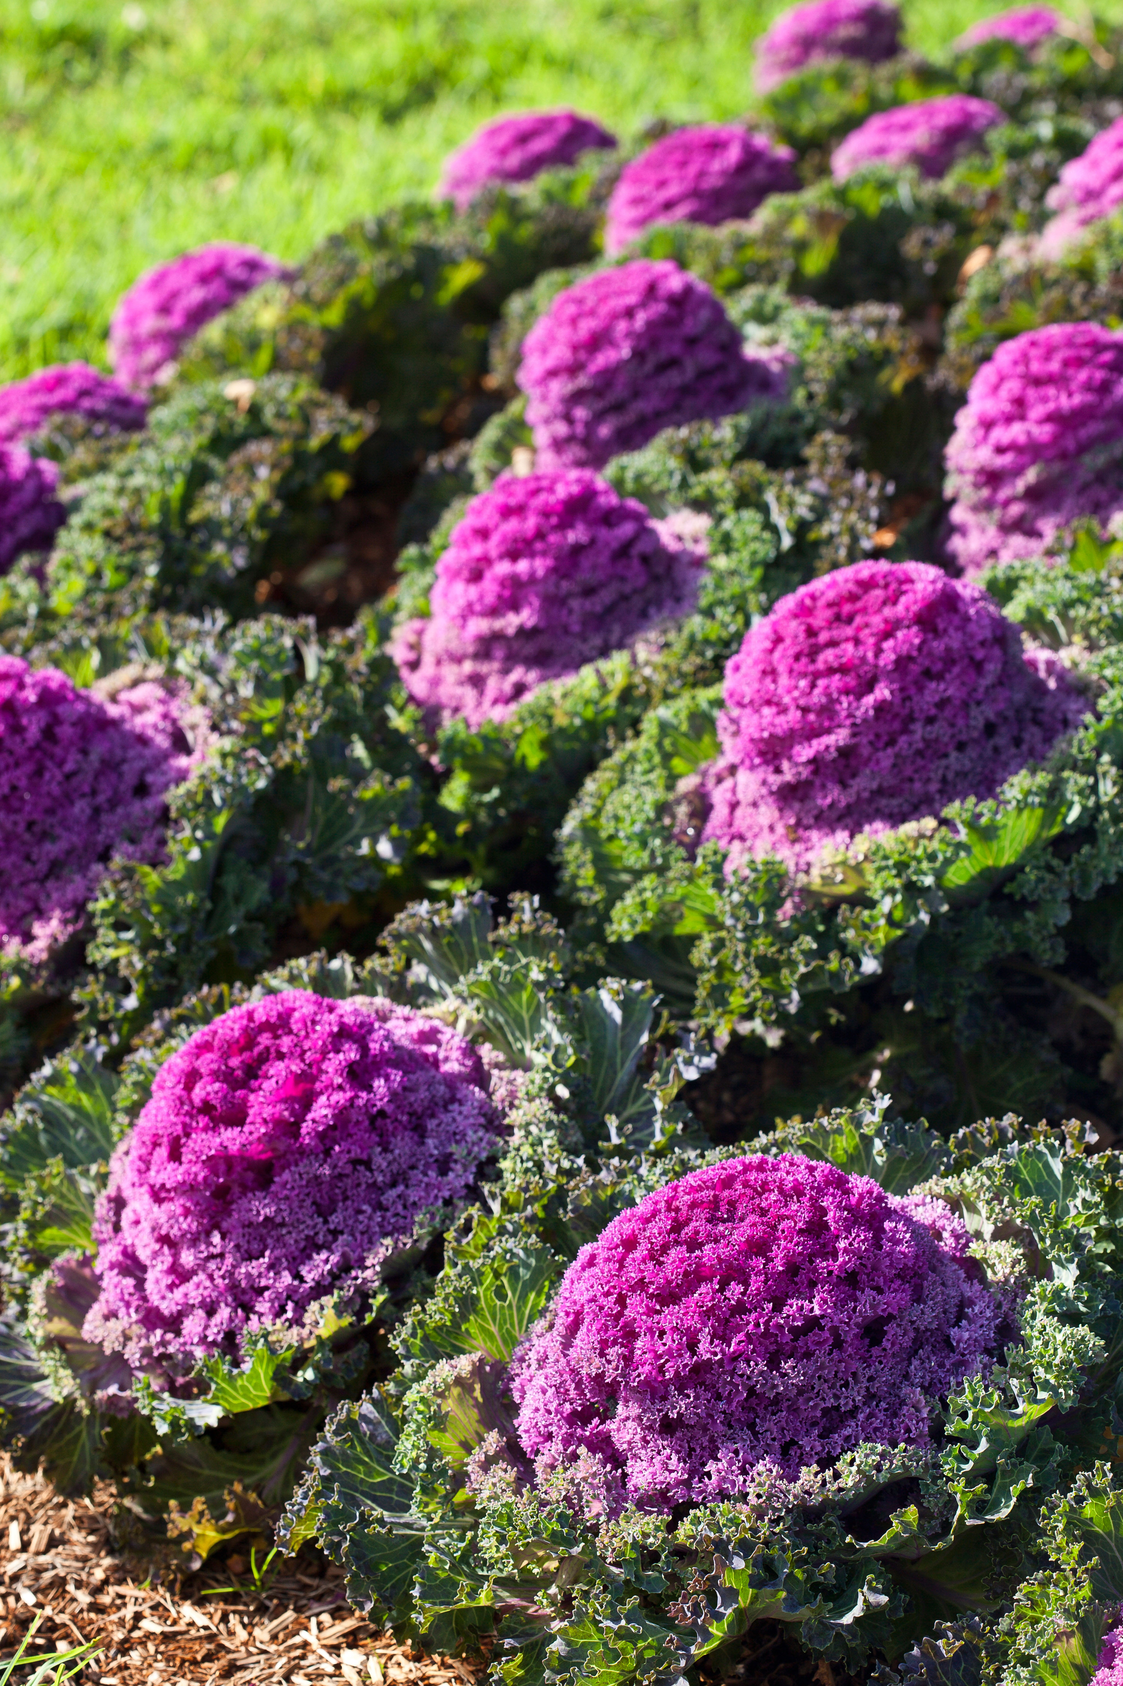
<path id="1" fill-rule="evenodd" d="M 465 1662 L 410 1654 L 379 1634 L 347 1605 L 342 1573 L 309 1546 L 258 1592 L 238 1556 L 192 1575 L 170 1549 L 157 1560 L 121 1551 L 116 1509 L 108 1484 L 61 1499 L 0 1453 L 0 1676 L 39 1615 L 35 1654 L 96 1642 L 79 1676 L 89 1686 L 481 1683 Z M 233 1583 L 236 1592 L 214 1592 Z M 30 1673 L 17 1671 L 12 1686 Z"/>

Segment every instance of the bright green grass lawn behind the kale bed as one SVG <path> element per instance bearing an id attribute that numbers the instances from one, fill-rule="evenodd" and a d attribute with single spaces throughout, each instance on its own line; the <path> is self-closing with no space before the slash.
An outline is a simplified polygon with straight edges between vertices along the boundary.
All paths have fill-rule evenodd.
<path id="1" fill-rule="evenodd" d="M 919 0 L 939 52 L 1003 0 Z M 206 239 L 283 258 L 432 189 L 501 110 L 631 132 L 750 98 L 776 0 L 0 0 L 0 378 L 103 361 L 118 293 Z M 1116 0 L 1123 8 L 1123 0 Z"/>

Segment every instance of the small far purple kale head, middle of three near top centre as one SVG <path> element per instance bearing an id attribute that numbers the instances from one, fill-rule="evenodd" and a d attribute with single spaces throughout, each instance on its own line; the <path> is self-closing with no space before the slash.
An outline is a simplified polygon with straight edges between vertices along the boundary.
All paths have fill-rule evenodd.
<path id="1" fill-rule="evenodd" d="M 730 223 L 752 216 L 769 194 L 794 192 L 791 147 L 776 147 L 737 123 L 680 128 L 624 165 L 604 228 L 605 251 L 621 251 L 651 223 Z"/>

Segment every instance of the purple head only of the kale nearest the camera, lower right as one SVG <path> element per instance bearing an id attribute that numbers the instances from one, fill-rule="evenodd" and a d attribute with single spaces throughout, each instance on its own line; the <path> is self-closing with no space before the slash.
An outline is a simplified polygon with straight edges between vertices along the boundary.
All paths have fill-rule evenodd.
<path id="1" fill-rule="evenodd" d="M 744 1492 L 860 1442 L 919 1445 L 995 1352 L 1000 1313 L 946 1205 L 784 1153 L 696 1170 L 621 1212 L 514 1359 L 538 1479 L 609 1507 Z"/>

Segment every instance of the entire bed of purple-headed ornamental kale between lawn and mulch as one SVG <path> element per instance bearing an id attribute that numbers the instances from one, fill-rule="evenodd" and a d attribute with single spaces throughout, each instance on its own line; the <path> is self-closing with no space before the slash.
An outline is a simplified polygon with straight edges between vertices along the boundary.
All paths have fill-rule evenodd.
<path id="1" fill-rule="evenodd" d="M 813 0 L 0 388 L 25 1467 L 508 1686 L 1121 1686 L 1120 320 L 1123 32 Z"/>

